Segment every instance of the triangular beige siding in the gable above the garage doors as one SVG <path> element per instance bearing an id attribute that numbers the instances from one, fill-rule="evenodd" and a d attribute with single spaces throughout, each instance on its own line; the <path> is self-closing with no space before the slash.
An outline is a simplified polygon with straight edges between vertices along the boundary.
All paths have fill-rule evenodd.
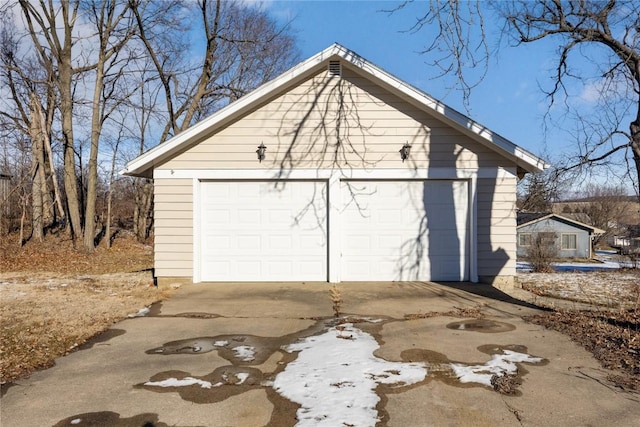
<path id="1" fill-rule="evenodd" d="M 410 163 L 398 150 L 412 145 Z M 261 164 L 260 143 L 267 146 Z M 265 102 L 159 169 L 316 168 L 332 166 L 477 168 L 505 160 L 411 103 L 344 69 L 322 72 Z"/>

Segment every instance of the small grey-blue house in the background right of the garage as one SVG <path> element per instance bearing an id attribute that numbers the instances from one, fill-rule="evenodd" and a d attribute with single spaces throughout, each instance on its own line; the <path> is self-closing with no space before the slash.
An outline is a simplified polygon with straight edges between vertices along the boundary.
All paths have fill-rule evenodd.
<path id="1" fill-rule="evenodd" d="M 558 258 L 593 258 L 593 238 L 605 231 L 552 213 L 518 212 L 518 257 L 527 257 L 536 238 L 555 246 Z"/>

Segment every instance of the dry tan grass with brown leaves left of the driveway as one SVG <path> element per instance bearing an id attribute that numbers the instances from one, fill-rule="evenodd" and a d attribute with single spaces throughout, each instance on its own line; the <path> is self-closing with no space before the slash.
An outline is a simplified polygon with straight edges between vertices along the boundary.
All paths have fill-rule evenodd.
<path id="1" fill-rule="evenodd" d="M 49 238 L 0 240 L 0 383 L 52 366 L 115 322 L 167 295 L 153 286 L 151 248 L 127 237 L 75 251 Z"/>

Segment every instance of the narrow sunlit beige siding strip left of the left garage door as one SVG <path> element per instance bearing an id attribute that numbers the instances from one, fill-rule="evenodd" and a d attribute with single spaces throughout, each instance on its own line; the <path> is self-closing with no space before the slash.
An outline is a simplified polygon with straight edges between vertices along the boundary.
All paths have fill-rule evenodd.
<path id="1" fill-rule="evenodd" d="M 193 275 L 193 181 L 156 179 L 155 268 L 158 277 Z"/>

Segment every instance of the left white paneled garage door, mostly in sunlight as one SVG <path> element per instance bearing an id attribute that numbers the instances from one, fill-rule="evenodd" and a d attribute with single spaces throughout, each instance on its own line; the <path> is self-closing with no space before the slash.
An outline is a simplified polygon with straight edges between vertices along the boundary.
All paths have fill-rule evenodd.
<path id="1" fill-rule="evenodd" d="M 203 182 L 203 281 L 326 281 L 326 184 Z"/>

